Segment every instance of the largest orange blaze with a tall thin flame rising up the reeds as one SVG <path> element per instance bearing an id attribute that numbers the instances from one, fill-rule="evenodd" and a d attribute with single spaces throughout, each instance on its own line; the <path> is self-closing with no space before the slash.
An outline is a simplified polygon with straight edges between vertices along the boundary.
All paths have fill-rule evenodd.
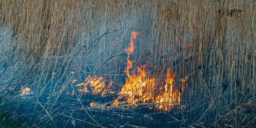
<path id="1" fill-rule="evenodd" d="M 132 32 L 131 36 L 131 47 L 126 50 L 128 55 L 133 52 L 133 41 L 136 38 L 138 33 Z M 118 104 L 137 104 L 137 103 L 159 103 L 159 108 L 161 110 L 167 111 L 169 107 L 173 106 L 173 103 L 180 104 L 180 91 L 174 87 L 173 77 L 175 73 L 172 74 L 169 69 L 167 69 L 167 74 L 165 76 L 165 86 L 156 86 L 159 80 L 156 80 L 155 77 L 145 77 L 146 71 L 143 71 L 146 65 L 137 67 L 138 74 L 130 76 L 129 69 L 132 68 L 132 61 L 127 57 L 127 68 L 124 70 L 128 78 L 126 78 L 126 83 L 122 87 L 122 91 L 119 93 L 119 97 L 114 100 L 114 103 L 111 105 Z M 187 79 L 187 77 L 186 77 Z M 181 80 L 182 84 L 186 81 L 185 79 Z M 160 85 L 164 85 L 162 81 Z M 183 88 L 182 88 L 183 91 Z M 120 100 L 124 100 L 119 102 Z"/>

